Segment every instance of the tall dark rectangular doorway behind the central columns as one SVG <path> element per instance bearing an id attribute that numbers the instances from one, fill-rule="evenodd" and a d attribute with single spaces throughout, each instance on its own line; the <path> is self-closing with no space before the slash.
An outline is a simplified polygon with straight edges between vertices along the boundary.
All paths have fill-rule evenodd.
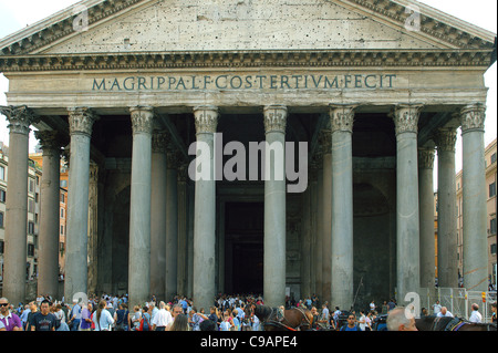
<path id="1" fill-rule="evenodd" d="M 225 289 L 227 293 L 262 293 L 262 203 L 227 203 L 225 207 Z"/>

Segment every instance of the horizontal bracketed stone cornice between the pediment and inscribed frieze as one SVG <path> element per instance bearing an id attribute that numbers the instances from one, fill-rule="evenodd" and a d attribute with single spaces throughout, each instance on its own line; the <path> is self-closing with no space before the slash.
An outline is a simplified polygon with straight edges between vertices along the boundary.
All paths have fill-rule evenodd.
<path id="1" fill-rule="evenodd" d="M 488 68 L 494 50 L 195 51 L 0 55 L 0 72 L 203 68 Z"/>

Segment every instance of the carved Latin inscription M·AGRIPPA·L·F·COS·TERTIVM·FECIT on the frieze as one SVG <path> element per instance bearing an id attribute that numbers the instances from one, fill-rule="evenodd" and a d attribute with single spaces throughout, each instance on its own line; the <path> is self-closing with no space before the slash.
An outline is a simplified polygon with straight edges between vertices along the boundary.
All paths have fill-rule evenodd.
<path id="1" fill-rule="evenodd" d="M 395 83 L 395 74 L 127 76 L 94 79 L 92 91 L 376 90 Z"/>

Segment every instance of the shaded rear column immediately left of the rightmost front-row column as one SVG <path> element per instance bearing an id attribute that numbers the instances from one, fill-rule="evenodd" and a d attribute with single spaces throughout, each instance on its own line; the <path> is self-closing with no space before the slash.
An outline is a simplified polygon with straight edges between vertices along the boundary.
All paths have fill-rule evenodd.
<path id="1" fill-rule="evenodd" d="M 456 134 L 456 128 L 440 128 L 434 136 L 437 146 L 437 278 L 442 288 L 458 288 Z"/>

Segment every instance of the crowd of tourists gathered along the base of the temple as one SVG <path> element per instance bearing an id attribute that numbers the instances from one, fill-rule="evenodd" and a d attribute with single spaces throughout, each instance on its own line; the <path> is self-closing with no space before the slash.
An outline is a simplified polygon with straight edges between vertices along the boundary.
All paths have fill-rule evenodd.
<path id="1" fill-rule="evenodd" d="M 261 295 L 226 295 L 216 298 L 212 307 L 196 308 L 191 300 L 177 295 L 168 302 L 153 295 L 143 305 L 128 308 L 128 298 L 124 295 L 102 294 L 87 301 L 74 300 L 72 305 L 64 301 L 40 295 L 35 301 L 14 307 L 7 298 L 0 298 L 0 331 L 262 331 L 262 324 L 255 314 L 255 308 L 264 304 Z M 281 310 L 301 308 L 313 315 L 311 329 L 336 331 L 374 331 L 383 328 L 413 330 L 414 320 L 407 320 L 404 311 L 397 310 L 394 299 L 376 305 L 372 301 L 366 310 L 343 311 L 329 303 L 320 303 L 317 295 L 294 301 L 287 299 Z M 496 322 L 496 304 L 494 322 Z M 473 305 L 471 322 L 481 322 L 477 304 Z M 422 310 L 424 315 L 452 316 L 447 308 L 438 301 L 432 313 Z M 391 319 L 391 329 L 386 323 Z M 397 331 L 397 330 L 396 330 Z"/>

